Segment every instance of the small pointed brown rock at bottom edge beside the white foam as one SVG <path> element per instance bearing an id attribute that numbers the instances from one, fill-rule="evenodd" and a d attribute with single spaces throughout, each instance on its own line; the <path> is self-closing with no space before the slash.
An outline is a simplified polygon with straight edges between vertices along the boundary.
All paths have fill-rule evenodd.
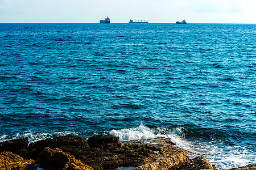
<path id="1" fill-rule="evenodd" d="M 197 156 L 196 158 L 190 159 L 175 170 L 193 170 L 193 169 L 209 169 L 217 170 L 215 165 L 211 165 L 210 162 L 204 156 Z"/>

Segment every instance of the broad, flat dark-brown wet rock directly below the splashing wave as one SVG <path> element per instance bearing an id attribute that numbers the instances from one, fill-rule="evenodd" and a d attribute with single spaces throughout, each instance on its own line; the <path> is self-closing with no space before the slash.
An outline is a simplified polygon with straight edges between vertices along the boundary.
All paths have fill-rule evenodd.
<path id="1" fill-rule="evenodd" d="M 88 143 L 92 141 L 88 139 Z M 98 145 L 99 147 L 92 147 L 87 154 L 82 154 L 76 158 L 94 169 L 115 169 L 118 167 L 138 167 L 155 162 L 157 159 L 164 159 L 184 152 L 184 150 L 162 140 L 159 142 L 156 140 L 152 140 L 152 142 L 138 140 L 121 143 L 114 139 L 112 142 L 104 142 Z"/>

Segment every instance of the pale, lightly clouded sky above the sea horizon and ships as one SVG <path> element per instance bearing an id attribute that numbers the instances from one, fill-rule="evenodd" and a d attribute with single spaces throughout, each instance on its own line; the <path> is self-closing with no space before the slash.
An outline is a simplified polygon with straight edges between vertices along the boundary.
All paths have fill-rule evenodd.
<path id="1" fill-rule="evenodd" d="M 253 23 L 256 0 L 0 0 L 0 23 Z"/>

